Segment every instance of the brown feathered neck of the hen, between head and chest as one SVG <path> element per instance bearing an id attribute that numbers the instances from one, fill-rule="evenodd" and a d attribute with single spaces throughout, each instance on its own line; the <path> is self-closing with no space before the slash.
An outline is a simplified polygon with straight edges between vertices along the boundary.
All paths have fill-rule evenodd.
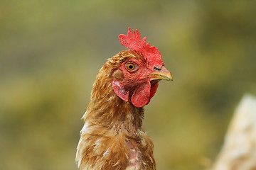
<path id="1" fill-rule="evenodd" d="M 101 71 L 102 69 L 93 84 L 91 101 L 84 116 L 85 123 L 94 128 L 105 128 L 136 136 L 142 128 L 144 109 L 136 108 L 129 101 L 123 101 L 114 94 L 112 78 Z"/>

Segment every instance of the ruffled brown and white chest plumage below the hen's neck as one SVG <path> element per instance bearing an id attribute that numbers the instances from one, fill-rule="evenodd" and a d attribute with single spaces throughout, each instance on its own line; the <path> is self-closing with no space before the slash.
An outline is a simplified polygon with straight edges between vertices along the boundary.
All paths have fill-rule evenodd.
<path id="1" fill-rule="evenodd" d="M 139 136 L 132 138 L 114 130 L 85 126 L 77 152 L 80 169 L 155 169 L 153 145 L 142 130 Z"/>

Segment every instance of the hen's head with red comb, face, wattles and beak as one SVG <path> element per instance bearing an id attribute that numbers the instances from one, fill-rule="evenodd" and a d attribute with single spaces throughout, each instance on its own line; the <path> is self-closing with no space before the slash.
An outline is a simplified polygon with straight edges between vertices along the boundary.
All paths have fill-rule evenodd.
<path id="1" fill-rule="evenodd" d="M 161 54 L 156 47 L 141 40 L 139 31 L 127 35 L 119 35 L 119 41 L 129 50 L 123 50 L 108 63 L 112 69 L 112 88 L 123 101 L 131 101 L 141 108 L 149 103 L 156 93 L 158 82 L 162 79 L 171 80 L 171 73 L 164 67 Z"/>

